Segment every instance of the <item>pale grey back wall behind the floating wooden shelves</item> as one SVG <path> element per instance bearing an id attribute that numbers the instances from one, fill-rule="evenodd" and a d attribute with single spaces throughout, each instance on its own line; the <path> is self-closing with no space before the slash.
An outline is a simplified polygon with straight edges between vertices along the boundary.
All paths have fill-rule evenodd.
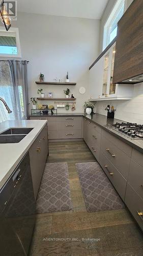
<path id="1" fill-rule="evenodd" d="M 98 56 L 100 20 L 18 13 L 17 22 L 12 25 L 19 28 L 22 59 L 30 61 L 29 98 L 38 96 L 38 88 L 46 96 L 52 91 L 53 97 L 65 97 L 65 86 L 37 86 L 35 81 L 39 80 L 40 72 L 45 75 L 45 81 L 53 81 L 55 77 L 65 81 L 68 70 L 70 81 L 77 82 L 69 87 L 77 98 L 76 112 L 83 112 L 82 105 L 89 98 L 89 67 Z M 84 95 L 79 94 L 81 86 L 87 90 Z"/>

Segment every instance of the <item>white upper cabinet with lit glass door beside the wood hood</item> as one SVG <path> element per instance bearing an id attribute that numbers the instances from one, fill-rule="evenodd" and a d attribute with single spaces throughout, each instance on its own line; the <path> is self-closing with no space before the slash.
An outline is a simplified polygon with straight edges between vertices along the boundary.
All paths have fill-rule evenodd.
<path id="1" fill-rule="evenodd" d="M 116 42 L 90 69 L 90 100 L 131 99 L 133 86 L 129 84 L 113 84 L 113 68 L 115 62 Z"/>

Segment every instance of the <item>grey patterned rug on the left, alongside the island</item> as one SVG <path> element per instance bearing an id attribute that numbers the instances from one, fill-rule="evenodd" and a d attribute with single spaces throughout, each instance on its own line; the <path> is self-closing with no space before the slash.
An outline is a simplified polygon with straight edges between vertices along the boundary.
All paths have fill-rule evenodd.
<path id="1" fill-rule="evenodd" d="M 38 214 L 72 209 L 67 163 L 45 165 L 36 209 Z"/>

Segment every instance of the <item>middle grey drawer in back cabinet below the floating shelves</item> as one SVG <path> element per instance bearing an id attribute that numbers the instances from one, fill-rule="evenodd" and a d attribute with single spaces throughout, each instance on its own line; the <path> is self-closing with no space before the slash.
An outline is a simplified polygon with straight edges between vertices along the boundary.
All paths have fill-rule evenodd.
<path id="1" fill-rule="evenodd" d="M 58 128 L 59 130 L 81 130 L 82 124 L 81 121 L 62 121 L 62 122 L 58 122 Z"/>

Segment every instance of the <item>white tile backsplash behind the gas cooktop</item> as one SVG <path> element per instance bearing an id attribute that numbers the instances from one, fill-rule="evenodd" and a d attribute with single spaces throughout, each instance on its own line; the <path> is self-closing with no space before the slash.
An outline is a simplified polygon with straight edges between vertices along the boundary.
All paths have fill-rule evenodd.
<path id="1" fill-rule="evenodd" d="M 106 100 L 96 102 L 96 113 L 107 115 L 106 106 L 113 105 L 117 110 L 115 118 L 123 121 L 143 123 L 143 82 L 134 85 L 131 100 Z"/>

